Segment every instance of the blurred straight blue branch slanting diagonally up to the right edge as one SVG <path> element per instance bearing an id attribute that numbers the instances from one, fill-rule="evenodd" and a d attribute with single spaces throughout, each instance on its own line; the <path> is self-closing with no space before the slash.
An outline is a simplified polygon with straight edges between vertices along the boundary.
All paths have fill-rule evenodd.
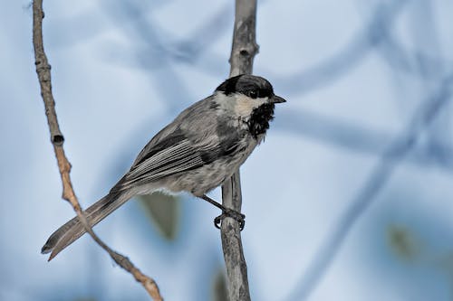
<path id="1" fill-rule="evenodd" d="M 422 102 L 403 134 L 397 137 L 381 156 L 379 164 L 373 169 L 361 191 L 352 200 L 340 220 L 337 221 L 335 227 L 333 227 L 333 232 L 319 248 L 314 259 L 310 261 L 304 277 L 297 282 L 297 288 L 287 298 L 288 300 L 305 300 L 310 296 L 319 280 L 330 267 L 354 223 L 376 200 L 377 194 L 390 179 L 396 167 L 416 146 L 423 130 L 433 122 L 440 109 L 446 106 L 448 100 L 452 97 L 452 89 L 453 72 L 448 74 L 444 80 L 441 80 L 436 92 Z"/>

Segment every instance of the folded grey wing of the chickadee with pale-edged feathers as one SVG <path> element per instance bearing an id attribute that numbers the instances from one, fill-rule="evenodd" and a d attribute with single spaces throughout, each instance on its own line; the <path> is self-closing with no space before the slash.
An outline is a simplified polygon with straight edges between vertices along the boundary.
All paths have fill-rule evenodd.
<path id="1" fill-rule="evenodd" d="M 219 148 L 217 119 L 211 98 L 198 101 L 164 127 L 137 156 L 114 190 L 158 181 L 207 164 L 203 154 Z"/>

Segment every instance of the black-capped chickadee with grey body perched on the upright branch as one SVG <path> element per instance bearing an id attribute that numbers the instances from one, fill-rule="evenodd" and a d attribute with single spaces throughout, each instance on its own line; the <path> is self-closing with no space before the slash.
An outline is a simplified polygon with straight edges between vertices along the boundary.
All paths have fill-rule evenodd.
<path id="1" fill-rule="evenodd" d="M 243 214 L 229 210 L 206 193 L 224 183 L 259 145 L 274 118 L 274 94 L 269 81 L 253 75 L 225 80 L 214 94 L 182 111 L 154 136 L 110 193 L 86 210 L 95 225 L 135 195 L 159 189 L 188 192 L 222 209 L 222 215 L 240 221 Z M 53 232 L 43 254 L 60 251 L 79 239 L 85 230 L 77 217 Z"/>

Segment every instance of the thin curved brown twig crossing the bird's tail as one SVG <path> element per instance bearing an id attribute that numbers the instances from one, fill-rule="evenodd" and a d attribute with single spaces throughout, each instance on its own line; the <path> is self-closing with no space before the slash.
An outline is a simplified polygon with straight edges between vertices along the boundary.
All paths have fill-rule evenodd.
<path id="1" fill-rule="evenodd" d="M 53 144 L 53 150 L 58 162 L 58 169 L 62 177 L 63 199 L 71 203 L 72 208 L 77 213 L 79 221 L 82 222 L 85 230 L 90 233 L 92 239 L 96 241 L 102 249 L 105 249 L 109 253 L 111 259 L 113 259 L 121 268 L 124 268 L 130 272 L 130 274 L 132 274 L 132 276 L 139 281 L 143 287 L 145 287 L 149 296 L 151 296 L 154 300 L 161 301 L 163 299 L 159 294 L 159 287 L 156 282 L 141 273 L 140 269 L 135 268 L 127 257 L 110 249 L 109 246 L 107 246 L 99 237 L 96 236 L 96 234 L 94 234 L 91 226 L 86 220 L 81 205 L 75 196 L 70 177 L 71 164 L 66 158 L 66 155 L 64 155 L 64 137 L 60 130 L 55 112 L 55 101 L 52 94 L 51 66 L 47 61 L 47 56 L 45 55 L 43 48 L 43 0 L 34 0 L 33 13 L 34 64 L 36 65 L 36 73 L 41 86 L 41 96 L 43 97 L 45 115 L 47 116 L 47 122 L 51 133 L 51 142 Z"/>

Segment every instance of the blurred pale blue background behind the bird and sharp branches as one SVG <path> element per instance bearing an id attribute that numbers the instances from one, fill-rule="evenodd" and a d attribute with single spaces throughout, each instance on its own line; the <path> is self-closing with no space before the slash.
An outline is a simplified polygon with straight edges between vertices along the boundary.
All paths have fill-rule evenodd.
<path id="1" fill-rule="evenodd" d="M 44 1 L 44 47 L 84 207 L 226 79 L 232 1 Z M 0 300 L 149 300 L 74 213 L 34 71 L 29 1 L 0 10 Z M 453 300 L 453 3 L 258 1 L 254 71 L 288 102 L 241 169 L 254 300 Z M 219 200 L 219 190 L 210 194 Z M 217 208 L 128 202 L 96 232 L 166 300 L 225 300 Z"/>

